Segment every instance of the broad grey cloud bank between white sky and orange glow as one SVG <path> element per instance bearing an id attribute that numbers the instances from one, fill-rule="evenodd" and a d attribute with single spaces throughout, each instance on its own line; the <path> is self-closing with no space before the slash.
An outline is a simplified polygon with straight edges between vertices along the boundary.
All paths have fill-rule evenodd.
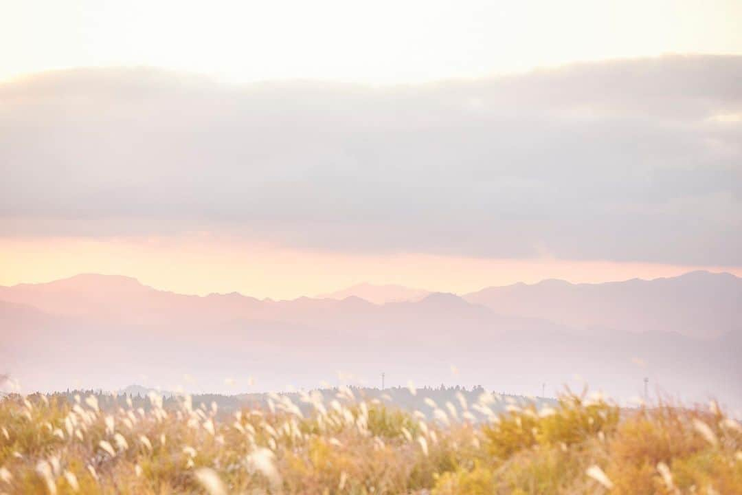
<path id="1" fill-rule="evenodd" d="M 0 235 L 742 265 L 742 56 L 366 87 L 0 85 Z"/>

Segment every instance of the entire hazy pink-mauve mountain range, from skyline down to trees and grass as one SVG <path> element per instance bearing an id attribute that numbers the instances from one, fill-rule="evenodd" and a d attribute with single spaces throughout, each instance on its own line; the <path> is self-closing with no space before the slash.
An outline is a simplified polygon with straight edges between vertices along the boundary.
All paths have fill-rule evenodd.
<path id="1" fill-rule="evenodd" d="M 640 395 L 649 376 L 653 390 L 672 396 L 742 405 L 741 288 L 732 275 L 693 272 L 374 304 L 357 295 L 181 295 L 133 278 L 79 275 L 0 287 L 0 372 L 31 390 L 116 389 L 140 376 L 174 390 L 185 373 L 202 391 L 226 391 L 217 390 L 225 378 L 247 376 L 283 390 L 340 371 L 372 383 L 384 372 L 387 384 L 534 395 L 544 384 L 554 395 L 580 375 L 620 397 Z"/>

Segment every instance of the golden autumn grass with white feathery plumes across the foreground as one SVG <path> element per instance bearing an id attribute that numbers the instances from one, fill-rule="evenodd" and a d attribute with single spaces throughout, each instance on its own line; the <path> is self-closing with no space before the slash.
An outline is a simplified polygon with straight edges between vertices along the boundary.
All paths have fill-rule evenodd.
<path id="1" fill-rule="evenodd" d="M 303 393 L 226 418 L 212 407 L 95 396 L 0 401 L 0 494 L 742 494 L 742 427 L 709 408 L 431 404 L 433 420 Z M 486 413 L 473 421 L 470 409 Z"/>

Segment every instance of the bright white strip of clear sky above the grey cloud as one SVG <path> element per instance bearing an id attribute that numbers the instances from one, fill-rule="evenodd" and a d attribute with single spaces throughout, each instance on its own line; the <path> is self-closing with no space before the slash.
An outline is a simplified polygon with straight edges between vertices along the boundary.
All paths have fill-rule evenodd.
<path id="1" fill-rule="evenodd" d="M 740 53 L 736 0 L 2 0 L 0 79 L 139 66 L 234 82 L 400 83 Z"/>

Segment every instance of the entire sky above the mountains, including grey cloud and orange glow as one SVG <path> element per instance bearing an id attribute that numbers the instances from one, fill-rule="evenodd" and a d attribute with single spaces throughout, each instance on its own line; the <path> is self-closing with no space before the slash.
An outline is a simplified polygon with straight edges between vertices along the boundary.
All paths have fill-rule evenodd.
<path id="1" fill-rule="evenodd" d="M 0 284 L 742 275 L 738 1 L 2 1 Z"/>

